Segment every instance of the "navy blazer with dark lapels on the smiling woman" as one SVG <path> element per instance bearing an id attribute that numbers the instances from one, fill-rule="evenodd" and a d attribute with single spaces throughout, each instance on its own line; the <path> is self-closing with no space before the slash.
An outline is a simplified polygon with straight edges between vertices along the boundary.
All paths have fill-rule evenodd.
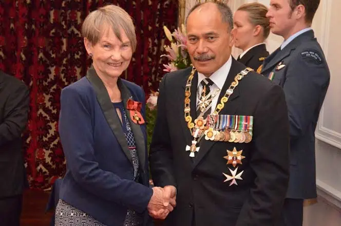
<path id="1" fill-rule="evenodd" d="M 141 87 L 118 80 L 124 103 L 145 103 Z M 142 115 L 145 114 L 143 104 Z M 128 113 L 129 111 L 127 111 Z M 59 133 L 67 161 L 60 198 L 109 226 L 123 225 L 127 209 L 145 213 L 149 188 L 146 126 L 131 122 L 140 161 L 141 183 L 134 168 L 121 121 L 102 80 L 91 67 L 87 76 L 62 90 Z"/>

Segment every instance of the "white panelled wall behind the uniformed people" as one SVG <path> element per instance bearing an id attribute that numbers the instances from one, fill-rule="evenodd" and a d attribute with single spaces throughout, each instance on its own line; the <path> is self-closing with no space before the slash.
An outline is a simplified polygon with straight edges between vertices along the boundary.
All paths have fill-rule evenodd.
<path id="1" fill-rule="evenodd" d="M 195 0 L 187 0 L 190 4 Z M 260 2 L 269 6 L 270 0 L 230 0 L 235 11 L 241 4 Z M 316 204 L 304 209 L 304 226 L 341 225 L 341 1 L 321 0 L 313 29 L 324 49 L 331 73 L 331 81 L 316 128 Z M 267 47 L 270 52 L 282 43 L 282 38 L 270 35 Z M 239 50 L 234 50 L 236 56 Z"/>

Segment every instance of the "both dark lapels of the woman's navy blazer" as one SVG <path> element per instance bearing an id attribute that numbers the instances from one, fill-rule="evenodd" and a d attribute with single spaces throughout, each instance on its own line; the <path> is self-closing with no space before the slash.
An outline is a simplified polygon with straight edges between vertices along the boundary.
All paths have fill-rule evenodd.
<path id="1" fill-rule="evenodd" d="M 100 79 L 100 77 L 98 77 L 96 70 L 94 70 L 92 65 L 87 71 L 86 78 L 89 80 L 94 91 L 96 92 L 97 101 L 98 101 L 99 105 L 101 106 L 104 117 L 105 117 L 106 121 L 108 122 L 108 124 L 112 130 L 113 135 L 118 140 L 119 144 L 121 145 L 121 147 L 123 149 L 124 154 L 127 156 L 127 158 L 129 159 L 129 161 L 132 164 L 132 157 L 131 157 L 131 154 L 129 152 L 128 144 L 127 144 L 127 141 L 126 141 L 126 138 L 124 136 L 124 132 L 123 132 L 123 129 L 121 126 L 121 120 L 118 117 L 116 110 L 113 107 L 113 104 L 111 103 L 109 94 L 108 94 L 102 80 Z M 127 86 L 123 83 L 122 79 L 119 78 L 117 81 L 117 84 L 118 84 L 118 87 L 121 91 L 121 97 L 122 97 L 123 103 L 124 103 L 124 105 L 126 105 L 128 99 L 132 98 L 131 93 L 130 93 L 129 89 L 127 88 Z M 126 108 L 126 106 L 125 106 L 125 108 Z M 132 133 L 134 133 L 140 166 L 142 166 L 141 168 L 144 168 L 143 167 L 145 165 L 144 136 L 142 134 L 142 130 L 141 130 L 140 125 L 137 125 L 134 122 L 132 122 L 131 118 L 130 118 L 130 112 L 128 110 L 126 110 L 126 112 L 127 112 L 127 118 L 129 120 Z"/>

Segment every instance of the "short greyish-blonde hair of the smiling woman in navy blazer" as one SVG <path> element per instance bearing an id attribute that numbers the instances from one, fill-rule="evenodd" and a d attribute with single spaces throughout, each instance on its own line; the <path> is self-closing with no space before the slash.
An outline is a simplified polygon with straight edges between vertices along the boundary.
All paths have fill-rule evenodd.
<path id="1" fill-rule="evenodd" d="M 122 28 L 130 41 L 132 51 L 135 52 L 137 41 L 134 23 L 129 14 L 119 6 L 106 5 L 87 15 L 82 26 L 82 36 L 94 45 L 100 41 L 108 27 L 111 27 L 121 42 L 120 28 Z"/>

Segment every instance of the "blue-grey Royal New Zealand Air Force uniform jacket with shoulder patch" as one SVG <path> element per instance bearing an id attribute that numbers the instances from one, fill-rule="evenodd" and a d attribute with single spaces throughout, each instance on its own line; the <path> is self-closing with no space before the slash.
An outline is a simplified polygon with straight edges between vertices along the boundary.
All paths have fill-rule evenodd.
<path id="1" fill-rule="evenodd" d="M 285 66 L 278 67 L 279 63 Z M 315 128 L 330 73 L 314 32 L 302 33 L 282 50 L 277 49 L 264 61 L 261 73 L 273 73 L 273 82 L 286 94 L 291 140 L 287 196 L 315 198 Z"/>

